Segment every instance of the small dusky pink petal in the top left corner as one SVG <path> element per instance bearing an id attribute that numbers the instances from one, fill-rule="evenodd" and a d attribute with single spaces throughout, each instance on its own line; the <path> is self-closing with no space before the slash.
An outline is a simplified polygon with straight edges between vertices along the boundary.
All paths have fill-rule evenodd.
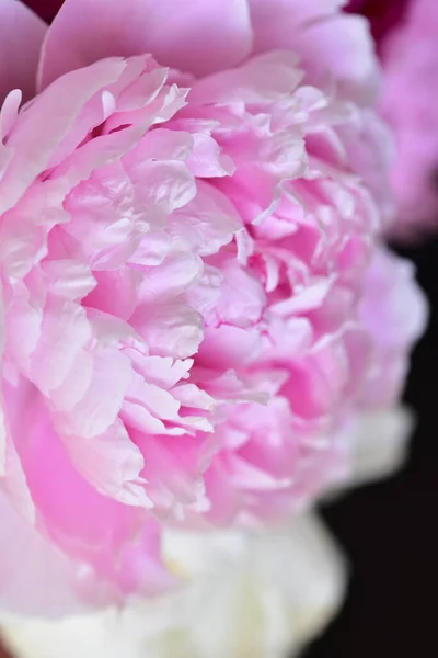
<path id="1" fill-rule="evenodd" d="M 34 95 L 46 30 L 21 2 L 0 0 L 0 105 L 12 89 L 21 89 L 25 101 Z"/>

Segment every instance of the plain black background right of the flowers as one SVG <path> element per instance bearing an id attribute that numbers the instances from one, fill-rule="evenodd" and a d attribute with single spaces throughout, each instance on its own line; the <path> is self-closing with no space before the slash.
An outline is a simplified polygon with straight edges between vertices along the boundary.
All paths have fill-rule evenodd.
<path id="1" fill-rule="evenodd" d="M 323 510 L 351 579 L 341 615 L 306 658 L 437 655 L 438 241 L 402 254 L 416 263 L 433 310 L 405 395 L 418 422 L 411 458 L 396 476 Z"/>

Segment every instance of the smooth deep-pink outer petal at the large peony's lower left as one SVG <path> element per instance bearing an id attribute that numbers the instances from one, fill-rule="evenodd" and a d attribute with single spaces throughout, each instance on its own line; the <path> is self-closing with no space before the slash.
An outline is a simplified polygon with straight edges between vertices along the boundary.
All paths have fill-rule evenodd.
<path id="1" fill-rule="evenodd" d="M 16 409 L 13 435 L 38 510 L 41 530 L 77 564 L 82 563 L 87 576 L 83 572 L 80 578 L 78 571 L 77 586 L 83 595 L 100 597 L 102 604 L 114 601 L 120 592 L 126 593 L 131 588 L 145 588 L 145 593 L 146 590 L 150 593 L 157 587 L 157 580 L 162 580 L 162 567 L 154 557 L 159 549 L 155 523 L 141 507 L 122 504 L 96 491 L 74 468 L 41 400 L 34 398 L 33 402 L 32 408 L 27 407 L 26 416 L 20 415 L 21 408 Z M 93 475 L 101 484 L 105 477 L 106 489 L 110 485 L 117 487 L 124 478 L 135 477 L 141 462 L 137 449 L 128 455 L 124 446 L 117 447 L 111 442 L 112 439 L 110 458 L 106 457 Z M 95 450 L 91 449 L 95 467 L 104 443 L 105 440 Z M 117 451 L 123 455 L 120 463 L 115 458 Z M 79 449 L 76 456 L 79 456 Z M 128 480 L 123 485 L 128 485 Z M 143 542 L 150 541 L 155 545 L 154 548 L 150 546 L 152 552 L 142 546 Z M 95 582 L 96 575 L 100 585 Z"/>

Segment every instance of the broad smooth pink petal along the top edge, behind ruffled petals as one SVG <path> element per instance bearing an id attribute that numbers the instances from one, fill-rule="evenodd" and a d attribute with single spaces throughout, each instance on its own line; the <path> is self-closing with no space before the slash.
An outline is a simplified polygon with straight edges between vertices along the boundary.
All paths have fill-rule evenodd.
<path id="1" fill-rule="evenodd" d="M 66 0 L 44 45 L 41 86 L 104 57 L 145 53 L 206 75 L 239 64 L 251 42 L 246 0 Z"/>

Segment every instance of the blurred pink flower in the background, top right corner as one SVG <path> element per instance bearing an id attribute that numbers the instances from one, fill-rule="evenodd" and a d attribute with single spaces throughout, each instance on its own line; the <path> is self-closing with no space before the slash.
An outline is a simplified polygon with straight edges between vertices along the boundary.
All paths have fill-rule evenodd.
<path id="1" fill-rule="evenodd" d="M 359 7 L 360 4 L 360 7 Z M 395 134 L 391 181 L 399 236 L 433 227 L 438 214 L 438 4 L 435 0 L 351 3 L 371 20 L 383 65 L 381 113 Z"/>

